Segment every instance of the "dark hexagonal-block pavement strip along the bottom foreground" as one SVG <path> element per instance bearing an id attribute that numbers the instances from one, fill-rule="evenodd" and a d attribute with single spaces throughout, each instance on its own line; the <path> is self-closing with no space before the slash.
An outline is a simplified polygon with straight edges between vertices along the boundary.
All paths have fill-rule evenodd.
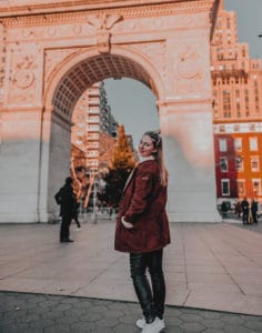
<path id="1" fill-rule="evenodd" d="M 0 292 L 1 333 L 138 333 L 138 303 Z M 168 305 L 167 333 L 262 332 L 262 317 Z"/>

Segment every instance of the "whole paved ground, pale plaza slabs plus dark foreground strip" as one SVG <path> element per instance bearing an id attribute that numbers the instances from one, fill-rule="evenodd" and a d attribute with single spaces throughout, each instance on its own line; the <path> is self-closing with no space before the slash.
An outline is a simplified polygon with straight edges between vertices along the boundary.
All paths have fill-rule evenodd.
<path id="1" fill-rule="evenodd" d="M 260 222 L 262 223 L 262 222 Z M 172 223 L 167 332 L 262 332 L 262 228 Z M 0 225 L 0 332 L 138 332 L 140 307 L 114 222 Z"/>

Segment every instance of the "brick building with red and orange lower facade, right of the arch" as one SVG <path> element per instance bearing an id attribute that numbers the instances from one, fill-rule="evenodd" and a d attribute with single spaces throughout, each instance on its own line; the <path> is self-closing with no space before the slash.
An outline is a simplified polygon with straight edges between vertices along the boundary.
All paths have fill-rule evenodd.
<path id="1" fill-rule="evenodd" d="M 218 203 L 262 201 L 262 61 L 238 42 L 236 16 L 220 3 L 211 43 Z"/>

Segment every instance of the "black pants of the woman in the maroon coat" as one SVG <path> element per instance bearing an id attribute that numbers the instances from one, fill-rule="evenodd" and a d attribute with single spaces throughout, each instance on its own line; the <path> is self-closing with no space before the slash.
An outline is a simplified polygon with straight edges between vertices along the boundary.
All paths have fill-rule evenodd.
<path id="1" fill-rule="evenodd" d="M 165 283 L 162 259 L 162 249 L 149 253 L 130 253 L 131 278 L 147 323 L 151 323 L 155 316 L 163 317 Z M 145 275 L 147 269 L 152 287 Z"/>

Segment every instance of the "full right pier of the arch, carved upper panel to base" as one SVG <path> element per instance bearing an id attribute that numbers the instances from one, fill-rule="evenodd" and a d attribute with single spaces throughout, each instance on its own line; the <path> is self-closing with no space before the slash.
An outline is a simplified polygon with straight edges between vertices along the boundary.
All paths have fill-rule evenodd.
<path id="1" fill-rule="evenodd" d="M 210 80 L 210 12 L 181 14 L 167 41 L 165 97 L 158 102 L 173 222 L 220 222 Z"/>

